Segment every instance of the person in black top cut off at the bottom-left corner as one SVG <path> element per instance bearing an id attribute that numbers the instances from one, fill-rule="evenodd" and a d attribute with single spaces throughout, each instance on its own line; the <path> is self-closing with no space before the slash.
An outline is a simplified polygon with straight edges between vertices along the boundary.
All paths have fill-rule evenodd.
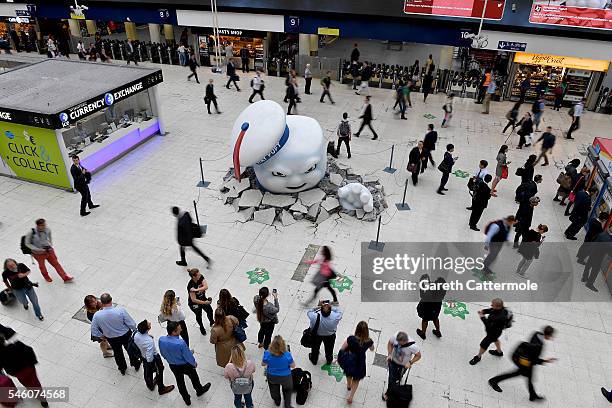
<path id="1" fill-rule="evenodd" d="M 38 364 L 38 359 L 32 347 L 20 341 L 7 343 L 5 337 L 0 336 L 0 370 L 17 378 L 21 385 L 34 392 L 42 389 L 36 373 L 36 364 Z M 37 398 L 43 408 L 49 406 L 42 393 L 35 395 L 39 395 Z"/>

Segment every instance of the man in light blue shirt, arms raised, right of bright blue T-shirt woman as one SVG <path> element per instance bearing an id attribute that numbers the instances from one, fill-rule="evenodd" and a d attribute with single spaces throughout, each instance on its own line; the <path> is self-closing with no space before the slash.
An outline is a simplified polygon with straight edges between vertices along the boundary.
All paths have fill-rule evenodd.
<path id="1" fill-rule="evenodd" d="M 313 331 L 312 349 L 308 353 L 308 359 L 313 365 L 317 365 L 319 361 L 321 343 L 323 343 L 325 349 L 326 364 L 332 363 L 336 331 L 340 320 L 342 320 L 342 314 L 340 309 L 332 307 L 329 301 L 325 300 L 320 301 L 317 307 L 308 311 L 310 329 Z"/>

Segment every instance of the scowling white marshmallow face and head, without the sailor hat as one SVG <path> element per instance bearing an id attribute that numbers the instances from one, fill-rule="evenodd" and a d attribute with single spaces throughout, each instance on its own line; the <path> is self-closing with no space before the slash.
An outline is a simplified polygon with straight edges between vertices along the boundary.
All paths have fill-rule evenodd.
<path id="1" fill-rule="evenodd" d="M 306 116 L 287 117 L 289 140 L 263 164 L 257 180 L 272 193 L 295 193 L 315 187 L 327 169 L 326 142 L 319 123 Z"/>

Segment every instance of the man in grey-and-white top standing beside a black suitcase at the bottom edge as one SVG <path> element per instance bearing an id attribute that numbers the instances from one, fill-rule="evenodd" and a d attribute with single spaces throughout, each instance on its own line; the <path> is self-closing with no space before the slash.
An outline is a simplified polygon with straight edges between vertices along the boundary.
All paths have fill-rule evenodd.
<path id="1" fill-rule="evenodd" d="M 389 399 L 389 390 L 399 384 L 406 370 L 410 370 L 420 359 L 421 349 L 406 332 L 399 331 L 389 339 L 387 342 L 389 376 L 383 400 Z"/>

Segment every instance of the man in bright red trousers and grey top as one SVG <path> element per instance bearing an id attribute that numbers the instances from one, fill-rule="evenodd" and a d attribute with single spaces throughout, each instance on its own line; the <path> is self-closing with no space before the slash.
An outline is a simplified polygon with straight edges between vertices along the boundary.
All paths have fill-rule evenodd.
<path id="1" fill-rule="evenodd" d="M 45 261 L 53 266 L 64 283 L 72 282 L 73 277 L 64 271 L 64 268 L 62 268 L 62 265 L 57 260 L 55 249 L 53 249 L 51 229 L 47 228 L 47 222 L 44 218 L 36 220 L 36 228 L 32 228 L 32 231 L 26 236 L 25 244 L 32 251 L 32 256 L 38 262 L 40 273 L 47 282 L 53 282 L 53 279 L 49 276 Z"/>

